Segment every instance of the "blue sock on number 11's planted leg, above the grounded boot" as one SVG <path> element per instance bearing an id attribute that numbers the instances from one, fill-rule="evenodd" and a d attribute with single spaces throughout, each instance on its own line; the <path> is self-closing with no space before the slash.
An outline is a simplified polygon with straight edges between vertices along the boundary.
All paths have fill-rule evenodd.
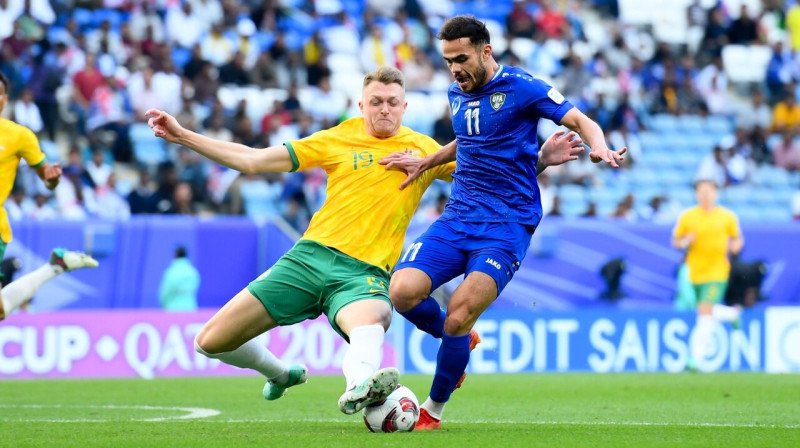
<path id="1" fill-rule="evenodd" d="M 469 335 L 442 336 L 442 345 L 436 357 L 436 373 L 433 375 L 431 400 L 445 403 L 456 389 L 458 380 L 469 363 Z"/>

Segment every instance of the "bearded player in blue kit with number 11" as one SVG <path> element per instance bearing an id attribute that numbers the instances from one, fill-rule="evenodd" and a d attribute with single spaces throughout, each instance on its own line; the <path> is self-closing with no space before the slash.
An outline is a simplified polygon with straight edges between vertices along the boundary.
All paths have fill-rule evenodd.
<path id="1" fill-rule="evenodd" d="M 519 269 L 542 218 L 536 183 L 539 119 L 577 132 L 594 162 L 618 167 L 624 153 L 609 150 L 600 127 L 556 89 L 524 70 L 498 65 L 489 32 L 474 17 L 449 19 L 437 37 L 455 77 L 448 92 L 455 144 L 416 162 L 407 154 L 381 162 L 405 170 L 407 185 L 428 168 L 456 161 L 444 213 L 408 247 L 389 286 L 397 311 L 442 339 L 416 426 L 423 430 L 441 428 L 445 403 L 480 341 L 472 327 Z M 444 312 L 430 292 L 462 273 L 464 282 Z"/>

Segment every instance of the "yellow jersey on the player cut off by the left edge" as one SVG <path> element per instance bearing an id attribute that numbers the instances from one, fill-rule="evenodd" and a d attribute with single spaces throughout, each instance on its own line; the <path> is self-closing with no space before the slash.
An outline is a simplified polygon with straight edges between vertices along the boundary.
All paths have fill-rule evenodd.
<path id="1" fill-rule="evenodd" d="M 0 205 L 5 204 L 20 159 L 35 167 L 44 163 L 45 157 L 39 148 L 36 135 L 25 126 L 0 118 Z M 0 206 L 0 238 L 4 243 L 11 241 L 11 226 L 8 224 L 6 210 Z"/>

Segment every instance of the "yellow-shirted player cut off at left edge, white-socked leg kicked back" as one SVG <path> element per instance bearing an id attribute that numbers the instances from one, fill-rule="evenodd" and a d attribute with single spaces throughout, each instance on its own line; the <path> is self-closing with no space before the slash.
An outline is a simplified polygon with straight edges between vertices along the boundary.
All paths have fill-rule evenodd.
<path id="1" fill-rule="evenodd" d="M 8 90 L 8 78 L 0 73 L 0 114 L 8 104 Z M 3 259 L 6 246 L 11 241 L 11 226 L 2 204 L 6 202 L 14 186 L 17 167 L 23 158 L 36 170 L 36 174 L 48 189 L 56 188 L 61 177 L 61 166 L 57 163 L 53 165 L 47 163 L 33 131 L 13 121 L 0 118 L 0 260 Z M 97 261 L 86 254 L 62 248 L 53 249 L 48 264 L 9 283 L 0 292 L 0 320 L 30 300 L 44 282 L 56 275 L 64 271 L 96 266 Z M 0 273 L 0 276 L 2 275 Z"/>

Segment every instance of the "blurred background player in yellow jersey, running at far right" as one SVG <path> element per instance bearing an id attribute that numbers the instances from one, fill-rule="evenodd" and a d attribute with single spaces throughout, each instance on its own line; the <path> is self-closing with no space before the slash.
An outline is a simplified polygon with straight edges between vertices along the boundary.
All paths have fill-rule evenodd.
<path id="1" fill-rule="evenodd" d="M 738 322 L 741 308 L 722 304 L 731 270 L 728 254 L 744 246 L 739 222 L 732 211 L 717 205 L 717 185 L 711 180 L 695 184 L 698 205 L 681 214 L 672 244 L 686 250 L 689 279 L 697 297 L 697 324 L 687 368 L 698 369 L 714 333 L 715 320 Z"/>

